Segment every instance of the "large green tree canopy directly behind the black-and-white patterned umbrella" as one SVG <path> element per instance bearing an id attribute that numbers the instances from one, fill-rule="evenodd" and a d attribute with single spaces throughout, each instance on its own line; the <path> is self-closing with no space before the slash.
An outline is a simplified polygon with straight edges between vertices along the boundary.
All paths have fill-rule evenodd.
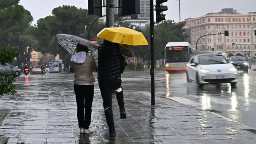
<path id="1" fill-rule="evenodd" d="M 64 60 L 67 51 L 58 45 L 56 34 L 66 33 L 84 38 L 84 26 L 89 28 L 90 22 L 95 17 L 88 15 L 87 9 L 78 9 L 75 6 L 56 7 L 52 10 L 52 15 L 37 21 L 37 30 L 34 32 L 35 38 L 39 40 L 39 51 L 48 51 L 51 54 L 60 54 Z M 90 29 L 90 38 L 96 38 L 98 32 L 103 29 L 98 20 L 93 23 Z M 65 64 L 65 63 L 64 63 Z"/>

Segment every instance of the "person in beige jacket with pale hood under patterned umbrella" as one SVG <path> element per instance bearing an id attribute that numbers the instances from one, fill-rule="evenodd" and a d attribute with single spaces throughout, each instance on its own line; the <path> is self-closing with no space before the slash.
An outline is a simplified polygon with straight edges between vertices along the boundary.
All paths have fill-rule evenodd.
<path id="1" fill-rule="evenodd" d="M 74 91 L 77 103 L 77 119 L 80 133 L 90 133 L 89 128 L 92 115 L 92 102 L 94 94 L 97 64 L 92 55 L 87 55 L 88 47 L 77 44 L 77 54 L 71 57 L 70 70 L 74 73 Z"/>

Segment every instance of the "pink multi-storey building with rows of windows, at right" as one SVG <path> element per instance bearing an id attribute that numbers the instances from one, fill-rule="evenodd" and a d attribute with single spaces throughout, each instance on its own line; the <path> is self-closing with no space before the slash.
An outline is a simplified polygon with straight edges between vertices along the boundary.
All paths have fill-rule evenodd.
<path id="1" fill-rule="evenodd" d="M 227 55 L 256 54 L 256 12 L 240 14 L 233 9 L 222 9 L 219 13 L 208 13 L 201 17 L 185 19 L 186 30 L 190 29 L 191 45 L 201 53 L 216 51 L 226 52 Z M 224 31 L 229 36 L 224 36 Z M 234 45 L 233 45 L 234 43 Z"/>

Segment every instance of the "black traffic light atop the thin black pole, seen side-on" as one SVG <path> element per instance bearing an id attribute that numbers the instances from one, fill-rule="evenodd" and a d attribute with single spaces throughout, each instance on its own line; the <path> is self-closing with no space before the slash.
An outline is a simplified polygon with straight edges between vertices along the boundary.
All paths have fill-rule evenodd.
<path id="1" fill-rule="evenodd" d="M 156 0 L 156 23 L 165 20 L 165 15 L 161 14 L 161 12 L 168 10 L 167 6 L 161 6 L 161 3 L 166 2 L 167 0 Z"/>

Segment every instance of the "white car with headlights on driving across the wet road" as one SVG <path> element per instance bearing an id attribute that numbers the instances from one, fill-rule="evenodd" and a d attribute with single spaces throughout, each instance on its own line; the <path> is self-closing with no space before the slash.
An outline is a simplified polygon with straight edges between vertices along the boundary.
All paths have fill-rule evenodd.
<path id="1" fill-rule="evenodd" d="M 236 67 L 219 54 L 194 55 L 186 73 L 187 81 L 195 82 L 198 87 L 209 83 L 230 83 L 235 86 L 238 78 Z"/>

